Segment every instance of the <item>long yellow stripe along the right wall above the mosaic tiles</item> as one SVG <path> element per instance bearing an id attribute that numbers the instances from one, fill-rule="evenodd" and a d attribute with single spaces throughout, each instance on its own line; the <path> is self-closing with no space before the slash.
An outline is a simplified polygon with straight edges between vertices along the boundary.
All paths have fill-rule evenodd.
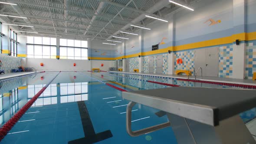
<path id="1" fill-rule="evenodd" d="M 207 46 L 224 45 L 224 44 L 233 43 L 236 41 L 236 39 L 239 39 L 240 41 L 256 40 L 256 32 L 238 33 L 238 34 L 234 34 L 232 36 L 222 37 L 222 38 L 218 38 L 218 39 L 210 39 L 210 40 L 206 40 L 206 41 L 202 41 L 202 42 L 189 43 L 189 44 L 180 45 L 180 46 L 169 46 L 164 49 L 158 49 L 158 50 L 149 51 L 149 52 L 139 52 L 139 53 L 135 53 L 135 54 L 128 55 L 128 56 L 119 56 L 119 57 L 115 57 L 115 58 L 90 57 L 89 59 L 100 59 L 100 60 L 116 60 L 116 59 L 122 59 L 122 58 L 127 59 L 127 58 L 138 57 L 138 55 L 148 56 L 148 55 L 166 53 L 166 52 L 168 52 L 168 50 L 180 51 L 180 50 L 187 50 L 187 49 L 202 48 L 202 47 L 207 47 Z"/>

